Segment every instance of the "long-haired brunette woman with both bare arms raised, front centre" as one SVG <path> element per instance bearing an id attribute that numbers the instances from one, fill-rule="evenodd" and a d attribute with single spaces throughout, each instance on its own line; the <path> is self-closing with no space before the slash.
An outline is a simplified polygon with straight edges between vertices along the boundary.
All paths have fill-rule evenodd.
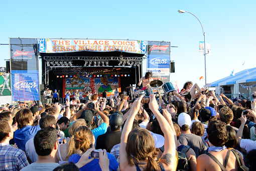
<path id="1" fill-rule="evenodd" d="M 149 108 L 155 114 L 165 136 L 165 150 L 157 162 L 157 150 L 151 133 L 144 128 L 132 130 L 133 121 L 140 109 L 143 96 L 133 103 L 129 117 L 122 129 L 120 144 L 121 170 L 174 170 L 176 145 L 174 132 L 158 110 L 156 95 L 150 95 Z"/>

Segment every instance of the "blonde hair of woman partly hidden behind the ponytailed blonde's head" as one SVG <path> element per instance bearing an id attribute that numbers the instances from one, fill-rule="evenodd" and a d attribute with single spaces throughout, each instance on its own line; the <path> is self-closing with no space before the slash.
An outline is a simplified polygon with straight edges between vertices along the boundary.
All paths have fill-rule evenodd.
<path id="1" fill-rule="evenodd" d="M 74 139 L 73 135 L 75 130 L 80 126 L 86 126 L 86 122 L 84 119 L 77 119 L 68 129 L 68 134 L 70 137 L 70 140 L 68 141 L 68 157 L 76 153 L 76 148 L 72 141 Z"/>

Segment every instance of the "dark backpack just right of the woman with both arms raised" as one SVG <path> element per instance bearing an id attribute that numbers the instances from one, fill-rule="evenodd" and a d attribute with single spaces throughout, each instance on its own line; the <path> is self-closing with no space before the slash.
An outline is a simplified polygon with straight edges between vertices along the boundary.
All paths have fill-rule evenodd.
<path id="1" fill-rule="evenodd" d="M 189 145 L 184 145 L 180 151 L 178 151 L 179 161 L 177 165 L 178 171 L 190 170 L 189 161 L 186 156 L 186 152 L 189 150 Z"/>

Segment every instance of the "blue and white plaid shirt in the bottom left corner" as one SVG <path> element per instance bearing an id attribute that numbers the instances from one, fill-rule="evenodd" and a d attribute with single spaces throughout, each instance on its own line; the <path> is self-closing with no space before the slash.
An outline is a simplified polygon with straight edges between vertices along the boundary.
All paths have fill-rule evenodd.
<path id="1" fill-rule="evenodd" d="M 29 165 L 25 152 L 9 144 L 0 143 L 0 169 L 20 170 Z"/>

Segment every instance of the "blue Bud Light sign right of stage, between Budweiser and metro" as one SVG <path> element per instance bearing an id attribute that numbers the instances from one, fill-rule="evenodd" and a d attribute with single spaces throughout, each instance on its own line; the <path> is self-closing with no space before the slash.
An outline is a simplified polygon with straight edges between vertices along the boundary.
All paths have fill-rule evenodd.
<path id="1" fill-rule="evenodd" d="M 148 68 L 170 68 L 169 55 L 149 55 Z"/>

